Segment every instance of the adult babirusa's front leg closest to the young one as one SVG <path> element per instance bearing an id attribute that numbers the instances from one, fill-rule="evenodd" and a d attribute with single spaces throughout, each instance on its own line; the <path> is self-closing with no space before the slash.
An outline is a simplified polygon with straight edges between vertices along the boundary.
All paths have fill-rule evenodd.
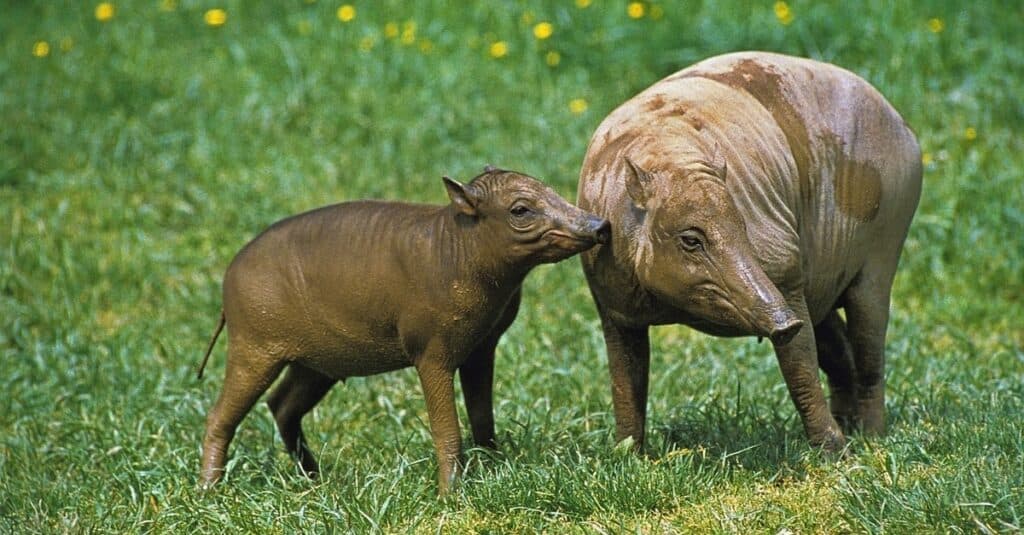
<path id="1" fill-rule="evenodd" d="M 639 451 L 643 448 L 647 419 L 647 375 L 650 366 L 647 327 L 625 327 L 602 314 L 601 329 L 608 352 L 615 440 L 632 437 L 634 448 Z"/>

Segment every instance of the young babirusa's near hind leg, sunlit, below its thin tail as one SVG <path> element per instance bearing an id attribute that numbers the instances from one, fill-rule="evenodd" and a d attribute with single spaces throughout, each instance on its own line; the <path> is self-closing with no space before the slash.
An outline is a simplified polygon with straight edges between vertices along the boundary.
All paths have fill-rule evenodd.
<path id="1" fill-rule="evenodd" d="M 281 368 L 280 362 L 251 358 L 237 349 L 228 349 L 224 386 L 206 418 L 203 467 L 200 470 L 200 484 L 204 488 L 223 477 L 227 447 L 234 438 L 236 428 L 281 373 Z"/>

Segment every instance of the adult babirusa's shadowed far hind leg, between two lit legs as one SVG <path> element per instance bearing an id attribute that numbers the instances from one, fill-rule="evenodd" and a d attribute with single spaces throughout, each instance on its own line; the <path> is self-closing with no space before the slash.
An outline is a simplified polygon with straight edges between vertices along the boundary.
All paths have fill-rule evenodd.
<path id="1" fill-rule="evenodd" d="M 845 433 L 856 429 L 857 369 L 853 363 L 853 347 L 846 334 L 846 323 L 831 311 L 814 327 L 814 342 L 818 349 L 818 366 L 828 376 L 828 406 L 833 417 Z"/>

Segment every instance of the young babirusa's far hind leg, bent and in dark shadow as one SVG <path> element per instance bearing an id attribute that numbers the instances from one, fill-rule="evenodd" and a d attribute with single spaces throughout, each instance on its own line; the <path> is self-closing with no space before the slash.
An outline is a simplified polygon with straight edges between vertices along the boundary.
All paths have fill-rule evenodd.
<path id="1" fill-rule="evenodd" d="M 334 383 L 335 380 L 327 375 L 292 364 L 266 400 L 288 453 L 299 461 L 310 478 L 319 474 L 319 465 L 302 433 L 302 417 L 324 399 Z"/>

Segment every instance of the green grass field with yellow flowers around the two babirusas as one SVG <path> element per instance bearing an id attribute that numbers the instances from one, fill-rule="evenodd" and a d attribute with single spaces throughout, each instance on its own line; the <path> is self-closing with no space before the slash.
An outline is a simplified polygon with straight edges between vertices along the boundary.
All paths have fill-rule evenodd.
<path id="1" fill-rule="evenodd" d="M 0 531 L 1024 529 L 1024 4 L 341 5 L 0 2 Z M 439 203 L 441 174 L 486 163 L 574 199 L 608 112 L 739 49 L 860 74 L 922 141 L 886 438 L 825 458 L 769 344 L 663 327 L 646 455 L 616 448 L 572 259 L 527 279 L 499 346 L 502 450 L 470 449 L 451 498 L 412 370 L 350 379 L 306 418 L 319 481 L 261 404 L 224 485 L 197 492 L 224 340 L 195 370 L 256 233 L 342 200 Z"/>

